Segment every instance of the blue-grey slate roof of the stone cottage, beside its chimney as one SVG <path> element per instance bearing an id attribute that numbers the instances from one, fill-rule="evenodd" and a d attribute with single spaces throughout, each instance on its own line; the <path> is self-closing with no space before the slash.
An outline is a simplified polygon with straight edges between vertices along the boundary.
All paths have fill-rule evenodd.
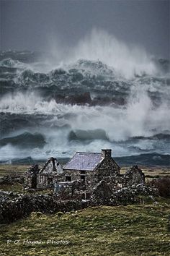
<path id="1" fill-rule="evenodd" d="M 73 158 L 66 163 L 63 169 L 77 170 L 77 171 L 93 171 L 97 164 L 102 161 L 102 154 L 100 153 L 81 153 L 77 152 Z"/>

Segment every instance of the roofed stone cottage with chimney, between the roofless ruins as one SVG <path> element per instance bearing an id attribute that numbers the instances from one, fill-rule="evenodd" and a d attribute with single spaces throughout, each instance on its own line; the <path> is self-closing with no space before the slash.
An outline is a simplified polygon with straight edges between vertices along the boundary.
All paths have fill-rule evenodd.
<path id="1" fill-rule="evenodd" d="M 81 153 L 73 155 L 63 166 L 63 181 L 84 181 L 86 188 L 94 187 L 102 179 L 118 179 L 120 166 L 112 158 L 112 150 L 102 150 L 101 153 Z"/>

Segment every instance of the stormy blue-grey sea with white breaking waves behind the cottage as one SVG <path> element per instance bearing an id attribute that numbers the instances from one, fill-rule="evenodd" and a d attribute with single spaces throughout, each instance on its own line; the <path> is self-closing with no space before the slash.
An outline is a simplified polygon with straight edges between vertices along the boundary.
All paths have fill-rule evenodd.
<path id="1" fill-rule="evenodd" d="M 0 83 L 0 163 L 111 148 L 120 164 L 169 166 L 168 59 L 98 35 L 66 52 L 1 51 Z"/>

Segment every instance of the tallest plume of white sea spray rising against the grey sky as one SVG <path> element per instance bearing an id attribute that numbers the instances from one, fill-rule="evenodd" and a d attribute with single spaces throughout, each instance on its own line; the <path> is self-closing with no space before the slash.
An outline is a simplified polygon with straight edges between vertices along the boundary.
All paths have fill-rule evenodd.
<path id="1" fill-rule="evenodd" d="M 153 75 L 157 72 L 152 56 L 149 56 L 145 49 L 125 44 L 104 30 L 91 30 L 76 46 L 68 49 L 66 56 L 62 48 L 58 48 L 55 43 L 52 48 L 53 63 L 58 63 L 61 59 L 63 63 L 73 63 L 79 59 L 100 60 L 128 79 L 136 74 Z"/>

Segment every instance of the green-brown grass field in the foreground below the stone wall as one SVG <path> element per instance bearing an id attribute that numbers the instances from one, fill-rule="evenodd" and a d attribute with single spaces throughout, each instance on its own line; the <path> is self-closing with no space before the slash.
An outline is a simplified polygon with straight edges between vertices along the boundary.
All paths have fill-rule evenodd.
<path id="1" fill-rule="evenodd" d="M 99 206 L 51 216 L 32 213 L 1 226 L 0 255 L 169 255 L 169 218 L 168 203 Z M 6 244 L 7 239 L 13 242 Z M 44 243 L 23 244 L 24 239 Z M 47 244 L 50 239 L 68 244 Z"/>

